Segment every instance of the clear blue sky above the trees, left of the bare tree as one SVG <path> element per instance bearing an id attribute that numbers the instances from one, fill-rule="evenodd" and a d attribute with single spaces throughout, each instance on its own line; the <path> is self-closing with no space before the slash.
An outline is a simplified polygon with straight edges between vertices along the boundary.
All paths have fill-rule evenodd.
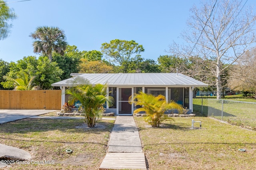
<path id="1" fill-rule="evenodd" d="M 13 2 L 16 0 L 6 0 Z M 250 0 L 249 0 L 250 1 Z M 167 55 L 172 41 L 186 28 L 189 9 L 199 0 L 30 0 L 8 4 L 18 18 L 10 36 L 0 41 L 0 59 L 18 61 L 33 53 L 30 33 L 38 26 L 63 29 L 69 45 L 98 50 L 112 39 L 135 40 L 145 59 Z M 252 3 L 252 2 L 251 2 Z"/>

